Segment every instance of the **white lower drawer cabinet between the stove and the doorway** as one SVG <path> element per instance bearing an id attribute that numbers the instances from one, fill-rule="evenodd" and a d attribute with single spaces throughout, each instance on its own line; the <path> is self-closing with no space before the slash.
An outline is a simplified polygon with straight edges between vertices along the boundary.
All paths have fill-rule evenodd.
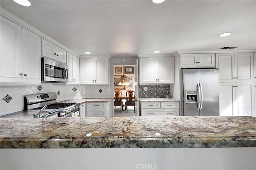
<path id="1" fill-rule="evenodd" d="M 92 102 L 86 104 L 86 117 L 107 117 L 107 102 Z"/>

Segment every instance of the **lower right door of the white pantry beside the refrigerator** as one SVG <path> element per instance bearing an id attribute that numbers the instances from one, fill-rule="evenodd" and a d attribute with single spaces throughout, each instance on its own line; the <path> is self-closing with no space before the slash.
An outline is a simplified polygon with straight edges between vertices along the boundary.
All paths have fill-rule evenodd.
<path id="1" fill-rule="evenodd" d="M 255 116 L 254 115 L 254 83 L 236 83 L 237 112 L 234 116 Z"/>

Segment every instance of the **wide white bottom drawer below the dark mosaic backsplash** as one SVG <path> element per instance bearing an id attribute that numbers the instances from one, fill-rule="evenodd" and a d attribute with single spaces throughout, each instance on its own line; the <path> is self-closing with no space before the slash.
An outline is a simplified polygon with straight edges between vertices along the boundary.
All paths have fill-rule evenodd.
<path id="1" fill-rule="evenodd" d="M 179 109 L 144 110 L 144 116 L 178 116 Z"/>

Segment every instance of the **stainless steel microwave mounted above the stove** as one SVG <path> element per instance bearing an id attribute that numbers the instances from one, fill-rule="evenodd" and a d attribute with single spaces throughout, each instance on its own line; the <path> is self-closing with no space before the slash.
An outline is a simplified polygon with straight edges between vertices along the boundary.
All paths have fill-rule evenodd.
<path id="1" fill-rule="evenodd" d="M 68 82 L 68 65 L 41 57 L 42 82 Z"/>

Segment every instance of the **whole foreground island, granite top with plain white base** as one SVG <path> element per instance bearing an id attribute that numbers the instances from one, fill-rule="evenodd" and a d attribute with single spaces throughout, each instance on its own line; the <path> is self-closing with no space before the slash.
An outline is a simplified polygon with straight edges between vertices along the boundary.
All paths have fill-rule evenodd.
<path id="1" fill-rule="evenodd" d="M 0 147 L 6 170 L 252 170 L 256 118 L 0 118 Z"/>

